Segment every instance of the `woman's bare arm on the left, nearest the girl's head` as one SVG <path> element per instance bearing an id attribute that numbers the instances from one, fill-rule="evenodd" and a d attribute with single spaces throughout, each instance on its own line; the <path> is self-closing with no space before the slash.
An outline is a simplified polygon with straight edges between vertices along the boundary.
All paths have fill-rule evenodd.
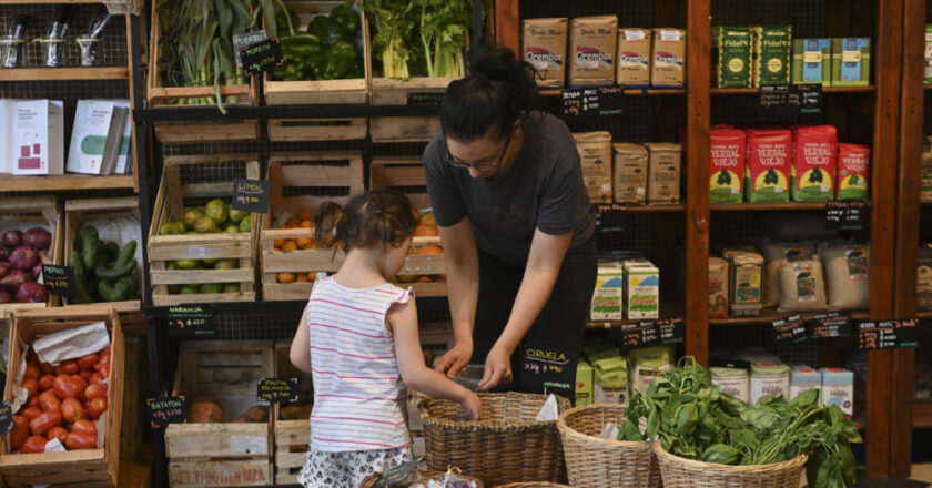
<path id="1" fill-rule="evenodd" d="M 473 356 L 473 324 L 479 299 L 479 254 L 469 217 L 449 227 L 438 227 L 447 267 L 447 295 L 454 346 L 440 357 L 437 370 L 450 378 Z"/>

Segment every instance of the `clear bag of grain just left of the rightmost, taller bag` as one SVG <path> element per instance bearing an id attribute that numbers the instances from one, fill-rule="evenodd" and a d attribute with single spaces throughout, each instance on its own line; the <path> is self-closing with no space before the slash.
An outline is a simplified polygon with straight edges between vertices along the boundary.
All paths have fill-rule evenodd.
<path id="1" fill-rule="evenodd" d="M 825 277 L 819 256 L 811 260 L 786 262 L 780 266 L 780 307 L 779 312 L 824 311 Z"/>

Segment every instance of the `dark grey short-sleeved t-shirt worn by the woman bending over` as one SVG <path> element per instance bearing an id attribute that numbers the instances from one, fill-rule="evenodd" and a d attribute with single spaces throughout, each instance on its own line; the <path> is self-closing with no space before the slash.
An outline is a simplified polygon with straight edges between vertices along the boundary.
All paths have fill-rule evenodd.
<path id="1" fill-rule="evenodd" d="M 455 225 L 468 215 L 478 248 L 518 266 L 527 262 L 535 228 L 553 235 L 573 232 L 573 248 L 587 242 L 596 227 L 569 129 L 543 112 L 530 112 L 523 129 L 517 159 L 495 180 L 474 179 L 447 163 L 443 131 L 424 150 L 437 224 Z"/>

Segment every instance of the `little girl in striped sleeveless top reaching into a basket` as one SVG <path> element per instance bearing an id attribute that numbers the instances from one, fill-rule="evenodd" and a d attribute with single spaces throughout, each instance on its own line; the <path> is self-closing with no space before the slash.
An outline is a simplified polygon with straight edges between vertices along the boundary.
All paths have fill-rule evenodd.
<path id="1" fill-rule="evenodd" d="M 473 392 L 424 364 L 411 289 L 389 279 L 404 266 L 417 222 L 401 193 L 350 199 L 336 225 L 346 260 L 317 274 L 291 347 L 314 378 L 306 488 L 357 488 L 373 472 L 409 461 L 406 386 L 458 401 L 478 419 Z"/>

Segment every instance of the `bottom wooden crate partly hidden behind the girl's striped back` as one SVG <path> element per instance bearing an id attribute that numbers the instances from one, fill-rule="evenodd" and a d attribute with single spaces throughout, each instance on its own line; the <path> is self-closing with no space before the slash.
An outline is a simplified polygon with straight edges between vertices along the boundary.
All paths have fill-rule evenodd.
<path id="1" fill-rule="evenodd" d="M 310 379 L 310 373 L 302 372 L 291 364 L 290 352 L 290 340 L 275 343 L 275 377 L 300 378 L 302 382 Z M 275 404 L 272 417 L 275 431 L 275 485 L 296 485 L 297 475 L 307 460 L 311 417 L 284 420 L 281 415 L 282 406 Z"/>

